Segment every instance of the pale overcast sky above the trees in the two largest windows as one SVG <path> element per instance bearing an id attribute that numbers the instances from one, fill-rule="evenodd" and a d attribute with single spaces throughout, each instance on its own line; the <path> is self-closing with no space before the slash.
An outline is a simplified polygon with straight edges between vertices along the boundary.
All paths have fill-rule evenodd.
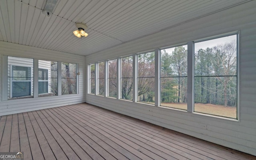
<path id="1" fill-rule="evenodd" d="M 200 48 L 202 49 L 206 49 L 207 47 L 212 48 L 214 46 L 218 46 L 220 44 L 225 44 L 226 42 L 232 42 L 233 40 L 236 40 L 236 35 L 232 35 L 232 36 L 226 36 L 226 37 L 222 37 L 222 38 L 216 38 L 213 40 L 207 40 L 207 41 L 203 41 L 203 42 L 197 42 L 195 43 L 195 52 L 197 52 Z M 186 50 L 188 49 L 187 45 L 183 46 Z M 174 48 L 167 48 L 165 49 L 166 52 L 168 53 L 172 53 L 172 51 L 174 51 Z"/>

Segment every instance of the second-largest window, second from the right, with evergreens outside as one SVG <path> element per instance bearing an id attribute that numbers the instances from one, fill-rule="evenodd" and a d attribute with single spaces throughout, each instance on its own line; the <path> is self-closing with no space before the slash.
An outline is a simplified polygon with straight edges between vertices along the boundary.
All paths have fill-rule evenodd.
<path id="1" fill-rule="evenodd" d="M 187 110 L 187 45 L 161 50 L 161 106 Z"/>

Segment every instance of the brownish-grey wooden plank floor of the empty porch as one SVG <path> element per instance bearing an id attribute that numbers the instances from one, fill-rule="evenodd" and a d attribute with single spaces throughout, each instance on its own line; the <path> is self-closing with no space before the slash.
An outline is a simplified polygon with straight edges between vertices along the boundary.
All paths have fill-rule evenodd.
<path id="1" fill-rule="evenodd" d="M 0 152 L 24 160 L 256 160 L 90 104 L 0 117 Z"/>

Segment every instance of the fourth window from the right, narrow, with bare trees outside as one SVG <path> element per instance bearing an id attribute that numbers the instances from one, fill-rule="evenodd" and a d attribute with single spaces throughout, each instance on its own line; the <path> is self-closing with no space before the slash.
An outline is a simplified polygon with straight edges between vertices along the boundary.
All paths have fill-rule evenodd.
<path id="1" fill-rule="evenodd" d="M 132 100 L 132 56 L 121 58 L 122 99 Z"/>

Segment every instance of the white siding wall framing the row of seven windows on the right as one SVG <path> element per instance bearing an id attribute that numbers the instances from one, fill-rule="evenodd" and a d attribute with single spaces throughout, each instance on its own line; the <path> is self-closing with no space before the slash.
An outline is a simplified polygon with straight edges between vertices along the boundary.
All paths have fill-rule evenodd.
<path id="1" fill-rule="evenodd" d="M 86 64 L 240 30 L 239 121 L 86 94 L 86 102 L 256 155 L 256 1 L 90 56 Z"/>

